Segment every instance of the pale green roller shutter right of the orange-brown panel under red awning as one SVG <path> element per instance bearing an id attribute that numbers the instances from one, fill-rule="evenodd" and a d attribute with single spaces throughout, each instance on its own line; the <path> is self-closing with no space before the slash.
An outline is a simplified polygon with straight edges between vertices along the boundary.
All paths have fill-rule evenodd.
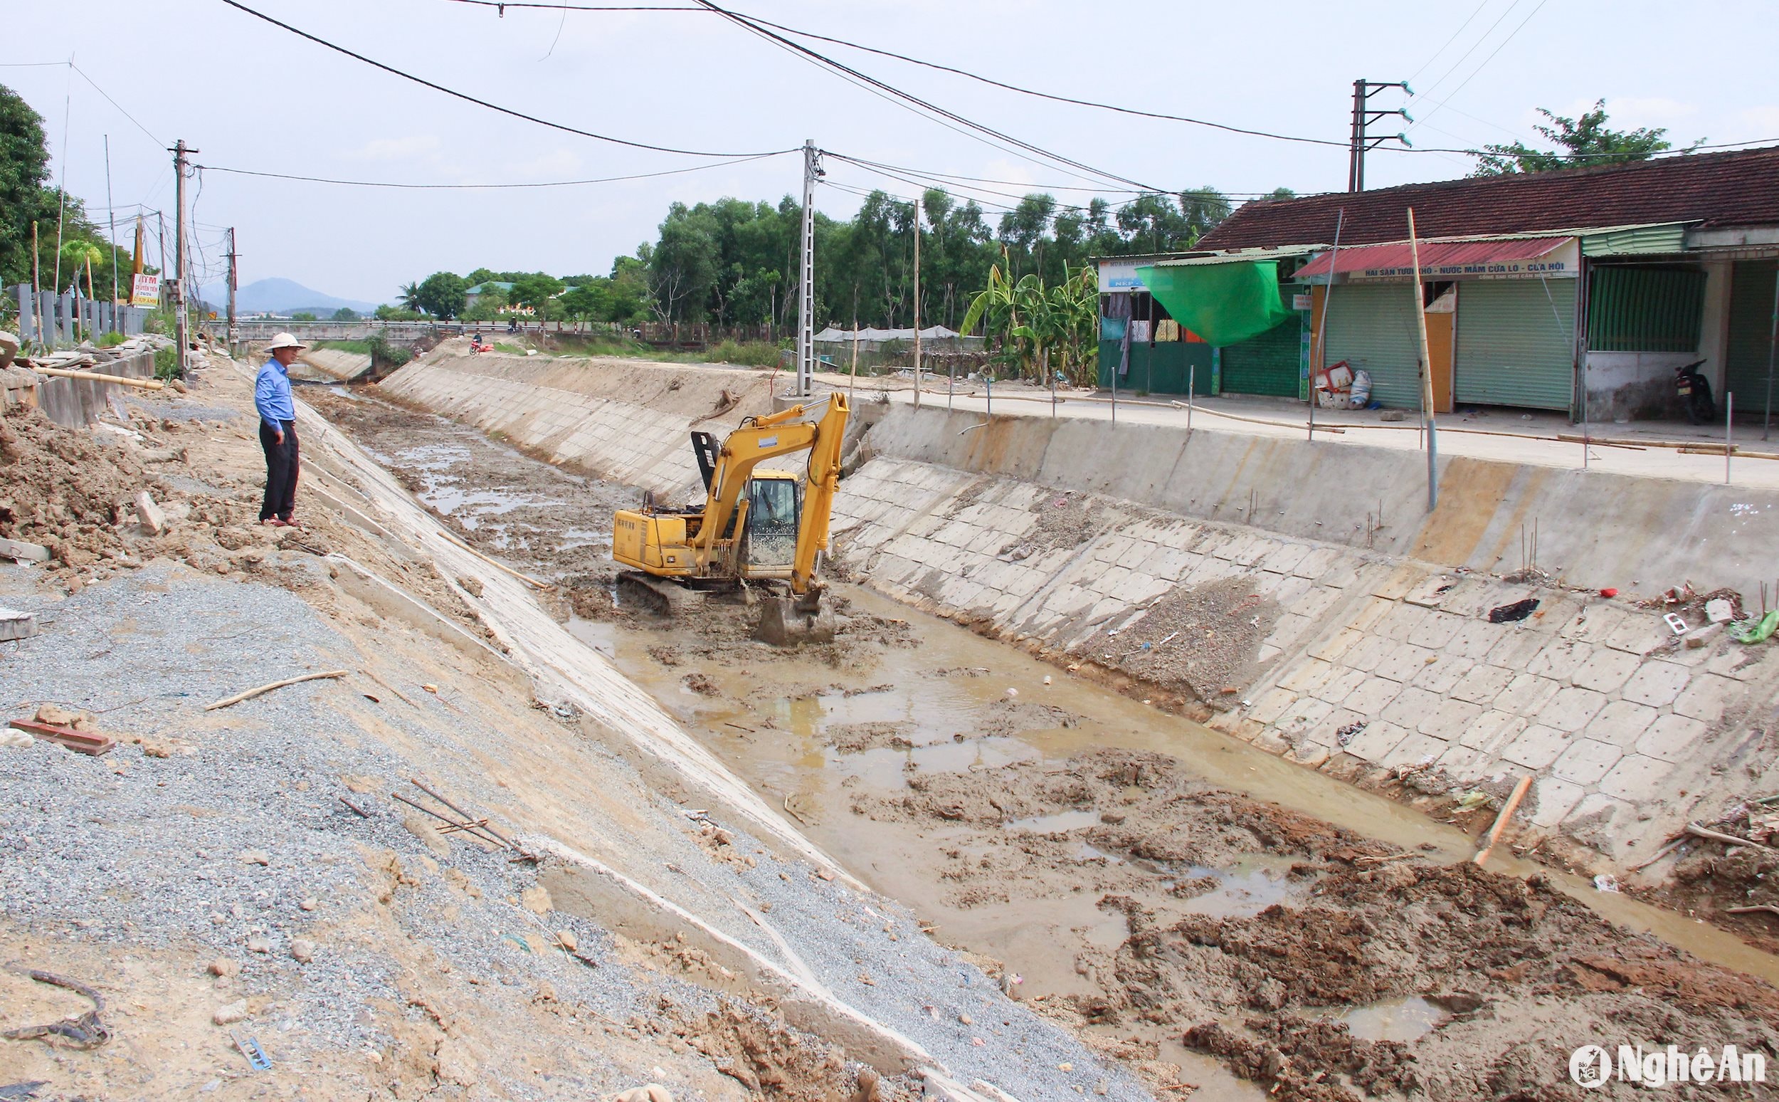
<path id="1" fill-rule="evenodd" d="M 1452 397 L 1484 406 L 1567 409 L 1574 399 L 1574 280 L 1461 285 Z"/>

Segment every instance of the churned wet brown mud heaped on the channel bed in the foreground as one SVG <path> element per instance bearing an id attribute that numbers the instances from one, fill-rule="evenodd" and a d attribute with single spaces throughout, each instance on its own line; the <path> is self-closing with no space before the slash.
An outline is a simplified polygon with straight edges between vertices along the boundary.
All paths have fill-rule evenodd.
<path id="1" fill-rule="evenodd" d="M 943 831 L 952 906 L 1092 901 L 1123 920 L 1110 942 L 1064 933 L 1053 954 L 1078 983 L 1042 1008 L 1124 1038 L 1158 1086 L 1153 1045 L 1181 1040 L 1299 1102 L 1567 1097 L 1569 1052 L 1603 1038 L 1779 1054 L 1779 992 L 1758 979 L 1603 922 L 1541 876 L 1391 853 L 1165 755 L 914 771 L 852 810 Z M 1425 1033 L 1361 1034 L 1361 1011 L 1402 1001 Z"/>

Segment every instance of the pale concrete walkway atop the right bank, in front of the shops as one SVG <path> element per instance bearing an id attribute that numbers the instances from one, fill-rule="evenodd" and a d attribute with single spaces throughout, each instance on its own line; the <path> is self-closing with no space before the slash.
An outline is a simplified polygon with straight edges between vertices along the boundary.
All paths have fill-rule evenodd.
<path id="1" fill-rule="evenodd" d="M 849 379 L 838 374 L 817 374 L 817 385 L 845 390 Z M 859 392 L 882 392 L 893 402 L 914 402 L 914 388 L 906 379 L 872 377 L 859 379 Z M 946 395 L 945 379 L 938 385 L 927 383 L 922 404 L 946 406 L 955 409 L 987 411 L 989 397 L 980 393 L 982 385 L 971 385 L 971 393 L 964 393 L 959 385 L 955 395 Z M 1105 392 L 1087 393 L 1082 390 L 1059 392 L 1055 406 L 1057 417 L 1082 420 L 1114 420 L 1114 404 Z M 1048 392 L 1037 386 L 1002 385 L 993 395 L 994 415 L 998 417 L 1050 417 L 1051 404 Z M 1306 438 L 1308 406 L 1300 402 L 1270 402 L 1265 399 L 1229 399 L 1201 397 L 1194 402 L 1190 425 L 1194 429 L 1211 429 L 1217 433 L 1244 433 L 1251 436 Z M 1117 424 L 1174 425 L 1185 427 L 1188 413 L 1185 401 L 1178 404 L 1163 399 L 1126 399 L 1117 401 Z M 1494 424 L 1500 422 L 1500 424 Z M 1324 425 L 1329 431 L 1324 431 Z M 1338 433 L 1334 429 L 1340 429 Z M 1649 422 L 1647 425 L 1594 425 L 1594 433 L 1610 434 L 1615 443 L 1594 443 L 1583 449 L 1582 425 L 1571 425 L 1567 418 L 1550 413 L 1533 413 L 1530 420 L 1521 420 L 1514 411 L 1491 411 L 1487 417 L 1450 415 L 1439 422 L 1439 454 L 1468 456 L 1475 459 L 1496 459 L 1503 463 L 1533 463 L 1569 470 L 1601 470 L 1646 479 L 1679 479 L 1688 482 L 1719 482 L 1724 479 L 1722 427 L 1704 429 L 1676 425 L 1670 422 Z M 1557 434 L 1574 440 L 1555 440 Z M 1372 447 L 1421 450 L 1423 434 L 1414 415 L 1402 422 L 1379 422 L 1377 411 L 1316 411 L 1316 442 L 1327 443 L 1364 443 Z M 1644 440 L 1646 443 L 1638 443 Z M 1717 454 L 1688 454 L 1674 447 L 1647 443 L 1660 442 L 1697 442 L 1701 449 L 1715 447 Z M 1736 425 L 1735 445 L 1747 452 L 1779 456 L 1779 440 L 1761 442 L 1758 425 Z M 1587 452 L 1583 459 L 1583 450 Z M 1779 459 L 1756 454 L 1736 454 L 1729 463 L 1729 484 L 1779 488 Z"/>

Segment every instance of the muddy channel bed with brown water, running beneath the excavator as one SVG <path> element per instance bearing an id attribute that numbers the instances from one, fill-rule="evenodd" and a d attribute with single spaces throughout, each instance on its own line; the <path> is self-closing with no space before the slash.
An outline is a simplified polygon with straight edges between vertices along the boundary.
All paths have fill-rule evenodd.
<path id="1" fill-rule="evenodd" d="M 375 390 L 317 404 L 455 538 L 557 582 L 539 595 L 551 628 L 607 655 L 811 853 L 914 908 L 859 895 L 833 922 L 938 940 L 1000 988 L 930 977 L 895 985 L 898 1004 L 993 1050 L 1018 1002 L 1121 1068 L 1082 1082 L 1059 1059 L 1062 1079 L 1023 1097 L 1117 1095 L 1130 1075 L 1155 1097 L 1484 1098 L 1555 1090 L 1601 1031 L 1775 1045 L 1779 968 L 1727 935 L 1560 869 L 1484 872 L 1455 824 L 863 587 L 838 589 L 840 639 L 802 652 L 749 641 L 722 605 L 664 625 L 610 584 L 600 529 L 632 490 Z M 710 933 L 737 970 L 761 967 Z M 783 949 L 760 952 L 793 990 Z M 870 1001 L 893 983 L 861 961 L 841 986 Z"/>

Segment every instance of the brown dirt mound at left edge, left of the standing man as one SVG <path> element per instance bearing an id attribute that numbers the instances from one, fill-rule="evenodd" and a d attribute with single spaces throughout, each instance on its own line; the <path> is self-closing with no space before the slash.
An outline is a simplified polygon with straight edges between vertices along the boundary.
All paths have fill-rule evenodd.
<path id="1" fill-rule="evenodd" d="M 66 429 L 39 409 L 0 417 L 0 536 L 48 547 L 69 566 L 123 552 L 121 506 L 149 486 L 121 436 Z"/>

